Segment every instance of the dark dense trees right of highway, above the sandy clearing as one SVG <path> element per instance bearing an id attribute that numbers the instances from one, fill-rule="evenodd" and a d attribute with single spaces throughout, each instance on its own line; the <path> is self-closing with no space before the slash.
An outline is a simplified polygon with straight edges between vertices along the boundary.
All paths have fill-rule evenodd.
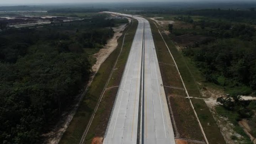
<path id="1" fill-rule="evenodd" d="M 191 23 L 189 19 L 192 18 L 180 19 Z M 190 33 L 208 37 L 195 41 L 183 51 L 197 62 L 206 80 L 225 86 L 231 95 L 250 94 L 251 89 L 256 90 L 255 28 L 207 20 L 192 22 L 192 25 L 192 28 L 185 30 L 174 29 L 173 35 Z"/>

